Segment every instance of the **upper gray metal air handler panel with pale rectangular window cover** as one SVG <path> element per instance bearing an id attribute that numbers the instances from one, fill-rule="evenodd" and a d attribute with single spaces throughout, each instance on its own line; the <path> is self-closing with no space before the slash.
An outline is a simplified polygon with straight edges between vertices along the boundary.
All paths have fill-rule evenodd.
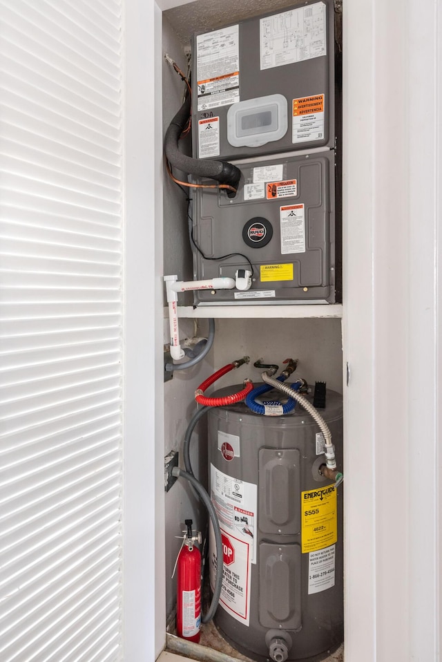
<path id="1" fill-rule="evenodd" d="M 292 7 L 282 8 L 270 15 L 280 15 L 291 9 L 297 9 L 315 2 L 298 3 Z M 251 100 L 264 95 L 282 94 L 287 100 L 289 127 L 283 138 L 269 142 L 260 147 L 233 147 L 227 141 L 227 111 L 231 107 L 216 106 L 198 111 L 198 77 L 195 66 L 195 35 L 193 39 L 193 154 L 199 155 L 198 122 L 209 117 L 219 117 L 221 160 L 257 156 L 262 154 L 293 151 L 294 149 L 309 149 L 311 147 L 334 147 L 334 4 L 332 0 L 324 0 L 326 8 L 327 55 L 300 60 L 291 64 L 281 64 L 267 69 L 260 68 L 260 19 L 253 17 L 238 23 L 239 26 L 239 85 L 240 101 Z M 206 33 L 208 34 L 208 33 Z M 314 95 L 325 95 L 324 136 L 320 140 L 300 143 L 292 142 L 292 104 L 293 100 Z M 231 104 L 232 105 L 232 104 Z M 235 104 L 233 104 L 235 105 Z M 202 157 L 203 158 L 203 157 Z M 210 158 L 215 158 L 210 157 Z"/>

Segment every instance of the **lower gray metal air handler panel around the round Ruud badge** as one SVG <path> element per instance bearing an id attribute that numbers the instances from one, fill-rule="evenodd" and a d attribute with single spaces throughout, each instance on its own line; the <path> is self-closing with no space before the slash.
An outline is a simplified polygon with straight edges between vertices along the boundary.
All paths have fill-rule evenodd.
<path id="1" fill-rule="evenodd" d="M 220 256 L 241 253 L 253 265 L 253 284 L 246 298 L 237 299 L 233 290 L 195 292 L 195 303 L 244 304 L 253 292 L 274 292 L 274 295 L 251 299 L 253 303 L 283 303 L 290 301 L 335 301 L 335 209 L 334 151 L 310 155 L 277 155 L 271 160 L 236 162 L 242 172 L 235 198 L 227 198 L 217 189 L 197 189 L 193 202 L 193 236 L 207 258 L 194 248 L 194 277 L 235 277 L 236 269 L 248 268 L 244 258 L 235 255 L 225 260 Z M 258 168 L 282 167 L 282 181 L 296 180 L 296 194 L 277 198 L 247 200 L 246 191 L 253 184 Z M 264 195 L 271 181 L 263 182 Z M 270 193 L 269 193 L 270 195 Z M 283 253 L 281 207 L 304 205 L 305 251 Z M 243 238 L 244 225 L 262 217 L 273 229 L 267 245 L 251 247 Z M 262 267 L 293 265 L 289 280 L 262 280 Z"/>

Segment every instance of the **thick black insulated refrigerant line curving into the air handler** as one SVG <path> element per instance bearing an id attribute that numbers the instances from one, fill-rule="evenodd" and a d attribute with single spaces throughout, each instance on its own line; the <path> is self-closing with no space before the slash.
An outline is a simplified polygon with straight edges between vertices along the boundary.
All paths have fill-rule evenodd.
<path id="1" fill-rule="evenodd" d="M 164 151 L 166 158 L 174 167 L 190 175 L 206 177 L 231 186 L 234 190 L 226 189 L 227 196 L 234 198 L 240 182 L 241 171 L 229 162 L 206 159 L 194 159 L 183 154 L 178 148 L 180 135 L 186 128 L 191 115 L 190 95 L 186 96 L 184 104 L 177 112 L 164 137 Z"/>

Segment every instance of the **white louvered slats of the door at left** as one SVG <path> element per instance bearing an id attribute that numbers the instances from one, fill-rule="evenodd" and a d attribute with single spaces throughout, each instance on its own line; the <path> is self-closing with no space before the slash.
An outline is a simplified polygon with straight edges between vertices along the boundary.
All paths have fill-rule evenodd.
<path id="1" fill-rule="evenodd" d="M 0 660 L 118 661 L 121 2 L 0 18 Z"/>

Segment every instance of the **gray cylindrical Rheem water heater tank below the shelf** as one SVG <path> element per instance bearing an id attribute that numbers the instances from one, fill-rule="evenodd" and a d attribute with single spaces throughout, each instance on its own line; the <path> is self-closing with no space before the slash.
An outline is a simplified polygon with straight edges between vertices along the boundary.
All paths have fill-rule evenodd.
<path id="1" fill-rule="evenodd" d="M 342 397 L 327 390 L 320 413 L 342 467 Z M 209 463 L 223 545 L 215 624 L 257 661 L 323 659 L 343 641 L 343 488 L 318 473 L 318 425 L 299 405 L 285 416 L 213 408 Z M 212 587 L 216 563 L 212 532 Z"/>

